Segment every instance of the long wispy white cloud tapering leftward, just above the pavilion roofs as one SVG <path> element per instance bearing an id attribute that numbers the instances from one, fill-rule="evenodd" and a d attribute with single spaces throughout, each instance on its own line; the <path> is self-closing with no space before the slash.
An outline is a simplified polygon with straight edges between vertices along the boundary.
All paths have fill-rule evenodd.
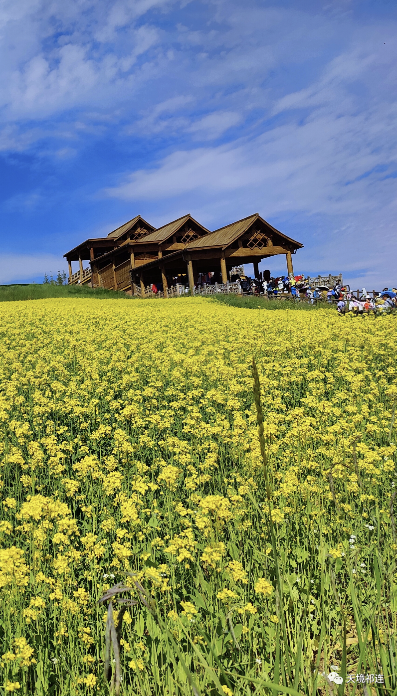
<path id="1" fill-rule="evenodd" d="M 302 125 L 275 127 L 249 141 L 173 152 L 106 193 L 122 200 L 241 193 L 262 198 L 271 214 L 359 214 L 384 206 L 395 186 L 394 179 L 384 180 L 397 161 L 391 116 L 386 104 L 371 115 L 336 118 L 319 111 Z"/>

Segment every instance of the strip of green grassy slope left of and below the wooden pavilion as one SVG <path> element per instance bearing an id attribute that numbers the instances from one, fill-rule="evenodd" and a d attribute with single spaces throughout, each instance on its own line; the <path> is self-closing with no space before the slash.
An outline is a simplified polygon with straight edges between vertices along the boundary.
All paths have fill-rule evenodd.
<path id="1" fill-rule="evenodd" d="M 96 299 L 132 299 L 125 292 L 104 290 L 87 285 L 0 285 L 0 302 L 40 300 L 50 297 L 95 297 Z"/>

